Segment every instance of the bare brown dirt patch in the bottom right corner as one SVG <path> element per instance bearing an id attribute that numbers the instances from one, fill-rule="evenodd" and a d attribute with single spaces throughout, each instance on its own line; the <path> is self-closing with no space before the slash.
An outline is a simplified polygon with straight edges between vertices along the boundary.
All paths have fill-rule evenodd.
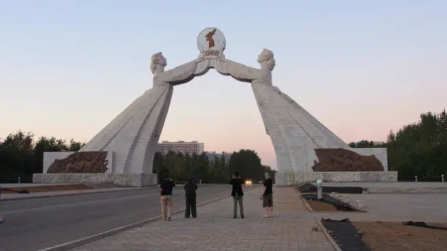
<path id="1" fill-rule="evenodd" d="M 352 222 L 371 250 L 446 250 L 447 230 L 404 226 L 400 222 Z M 444 226 L 447 224 L 430 224 Z"/>

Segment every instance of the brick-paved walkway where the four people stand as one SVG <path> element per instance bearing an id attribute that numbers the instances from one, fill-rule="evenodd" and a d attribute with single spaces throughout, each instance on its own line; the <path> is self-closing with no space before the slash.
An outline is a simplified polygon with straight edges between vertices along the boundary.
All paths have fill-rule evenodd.
<path id="1" fill-rule="evenodd" d="M 246 219 L 232 218 L 232 198 L 226 198 L 197 208 L 197 219 L 173 215 L 171 222 L 133 228 L 73 251 L 334 250 L 292 188 L 274 189 L 274 217 L 262 218 L 261 189 L 244 195 Z"/>

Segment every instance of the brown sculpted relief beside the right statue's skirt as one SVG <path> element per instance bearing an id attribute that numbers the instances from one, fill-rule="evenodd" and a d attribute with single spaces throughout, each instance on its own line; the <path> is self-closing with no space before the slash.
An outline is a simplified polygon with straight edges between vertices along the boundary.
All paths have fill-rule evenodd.
<path id="1" fill-rule="evenodd" d="M 374 155 L 362 156 L 346 149 L 316 149 L 313 171 L 384 171 L 380 160 Z"/>

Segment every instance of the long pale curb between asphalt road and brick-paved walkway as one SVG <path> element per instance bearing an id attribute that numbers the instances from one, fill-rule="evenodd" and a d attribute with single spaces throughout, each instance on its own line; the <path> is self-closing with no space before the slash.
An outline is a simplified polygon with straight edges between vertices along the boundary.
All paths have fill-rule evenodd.
<path id="1" fill-rule="evenodd" d="M 246 190 L 246 191 L 250 191 L 250 190 Z M 197 207 L 205 206 L 206 204 L 210 204 L 212 202 L 217 202 L 219 200 L 223 200 L 223 199 L 229 198 L 229 197 L 230 197 L 230 195 L 225 195 L 225 196 L 221 196 L 219 198 L 215 198 L 215 199 L 212 199 L 212 200 L 207 200 L 206 202 L 201 202 L 201 203 L 197 204 Z M 179 213 L 183 213 L 185 210 L 186 210 L 186 208 L 178 209 L 176 211 L 173 211 L 172 215 L 177 215 Z M 67 251 L 67 250 L 72 250 L 74 248 L 78 248 L 80 246 L 83 246 L 83 245 L 85 245 L 87 243 L 90 243 L 90 242 L 93 242 L 93 241 L 98 241 L 98 240 L 104 239 L 106 237 L 111 237 L 113 235 L 118 235 L 120 232 L 124 232 L 124 231 L 130 230 L 131 228 L 144 226 L 146 224 L 150 224 L 150 223 L 153 223 L 153 222 L 159 222 L 159 221 L 162 220 L 161 217 L 162 217 L 161 215 L 158 215 L 158 216 L 155 216 L 155 217 L 151 217 L 149 219 L 144 219 L 144 220 L 142 220 L 140 222 L 135 222 L 133 224 L 129 224 L 127 226 L 121 226 L 119 228 L 114 228 L 114 229 L 108 230 L 106 232 L 100 232 L 99 234 L 96 234 L 96 235 L 91 235 L 91 236 L 85 237 L 83 239 L 77 239 L 75 241 L 70 241 L 70 242 L 63 243 L 63 244 L 60 244 L 60 245 L 57 245 L 57 246 L 53 246 L 53 247 L 50 247 L 50 248 L 45 248 L 45 249 L 42 249 L 42 250 L 39 250 L 39 251 Z"/>

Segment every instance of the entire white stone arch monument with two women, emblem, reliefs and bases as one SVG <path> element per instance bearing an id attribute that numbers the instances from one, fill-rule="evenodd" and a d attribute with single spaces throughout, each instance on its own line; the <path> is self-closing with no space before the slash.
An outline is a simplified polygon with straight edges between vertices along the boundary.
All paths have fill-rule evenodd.
<path id="1" fill-rule="evenodd" d="M 386 148 L 351 149 L 336 134 L 274 86 L 274 53 L 262 49 L 259 69 L 229 60 L 226 39 L 214 27 L 197 37 L 199 56 L 165 71 L 161 52 L 151 57 L 153 86 L 125 108 L 79 152 L 44 154 L 43 174 L 34 182 L 113 182 L 144 187 L 157 183 L 153 157 L 175 86 L 215 69 L 251 84 L 265 132 L 277 159 L 276 185 L 323 178 L 326 181 L 391 181 Z"/>

